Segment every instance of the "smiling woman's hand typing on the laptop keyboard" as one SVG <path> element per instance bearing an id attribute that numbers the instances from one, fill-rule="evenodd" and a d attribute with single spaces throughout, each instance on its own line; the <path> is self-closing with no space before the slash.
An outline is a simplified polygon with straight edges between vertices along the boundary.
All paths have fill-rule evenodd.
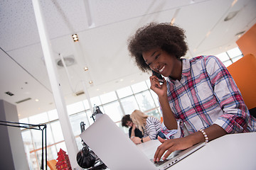
<path id="1" fill-rule="evenodd" d="M 188 138 L 189 137 L 181 137 L 181 138 L 171 139 L 171 140 L 164 140 L 161 137 L 158 138 L 162 144 L 156 149 L 156 153 L 154 154 L 154 162 L 159 162 L 164 152 L 166 153 L 162 158 L 163 160 L 169 157 L 171 152 L 192 147 L 194 144 Z"/>

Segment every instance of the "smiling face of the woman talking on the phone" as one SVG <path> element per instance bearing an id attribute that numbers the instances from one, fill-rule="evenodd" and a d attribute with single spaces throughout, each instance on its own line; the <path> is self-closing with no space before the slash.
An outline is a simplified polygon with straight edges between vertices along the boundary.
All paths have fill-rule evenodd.
<path id="1" fill-rule="evenodd" d="M 142 56 L 146 64 L 155 72 L 159 72 L 164 77 L 180 79 L 181 60 L 178 60 L 174 55 L 169 55 L 161 48 L 155 48 L 148 52 L 142 52 Z"/>

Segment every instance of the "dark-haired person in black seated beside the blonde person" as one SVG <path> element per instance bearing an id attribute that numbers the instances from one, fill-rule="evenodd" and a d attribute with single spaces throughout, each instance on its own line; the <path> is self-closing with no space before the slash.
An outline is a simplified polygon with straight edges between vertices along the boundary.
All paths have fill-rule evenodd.
<path id="1" fill-rule="evenodd" d="M 122 126 L 128 128 L 129 127 L 129 137 L 139 137 L 142 138 L 142 131 L 136 128 L 136 125 L 132 123 L 132 119 L 130 115 L 124 115 L 122 117 Z"/>

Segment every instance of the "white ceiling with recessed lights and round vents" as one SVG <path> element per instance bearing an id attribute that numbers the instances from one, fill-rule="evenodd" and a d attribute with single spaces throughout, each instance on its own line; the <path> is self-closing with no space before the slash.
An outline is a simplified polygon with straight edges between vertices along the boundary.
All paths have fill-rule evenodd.
<path id="1" fill-rule="evenodd" d="M 148 79 L 127 51 L 129 36 L 146 23 L 175 18 L 186 30 L 186 58 L 237 47 L 237 34 L 256 23 L 255 0 L 41 0 L 40 5 L 53 60 L 75 60 L 67 69 L 56 64 L 67 105 L 86 99 L 75 95 L 84 87 L 93 97 Z M 32 0 L 0 1 L 0 47 L 0 99 L 16 105 L 19 118 L 54 109 Z"/>

